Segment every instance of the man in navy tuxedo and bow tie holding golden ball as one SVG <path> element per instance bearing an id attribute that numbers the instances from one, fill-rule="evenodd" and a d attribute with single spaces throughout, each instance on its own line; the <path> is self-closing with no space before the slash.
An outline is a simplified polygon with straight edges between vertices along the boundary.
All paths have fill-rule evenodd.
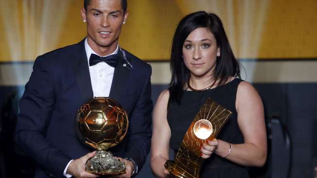
<path id="1" fill-rule="evenodd" d="M 35 60 L 15 132 L 16 142 L 38 163 L 35 178 L 97 177 L 84 170 L 94 152 L 74 129 L 77 110 L 93 97 L 114 98 L 129 117 L 126 137 L 110 149 L 126 165 L 118 177 L 129 178 L 143 166 L 151 137 L 151 68 L 118 46 L 126 9 L 126 0 L 84 0 L 87 37 Z"/>

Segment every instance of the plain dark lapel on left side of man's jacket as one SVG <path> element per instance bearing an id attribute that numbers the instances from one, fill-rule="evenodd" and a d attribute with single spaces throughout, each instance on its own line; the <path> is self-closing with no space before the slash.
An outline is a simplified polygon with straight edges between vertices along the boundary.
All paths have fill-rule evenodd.
<path id="1" fill-rule="evenodd" d="M 74 50 L 74 55 L 76 60 L 74 62 L 74 73 L 77 81 L 77 85 L 82 94 L 83 103 L 88 102 L 91 98 L 94 97 L 90 73 L 88 67 L 88 59 L 85 51 L 84 40 L 78 43 L 78 51 Z"/>

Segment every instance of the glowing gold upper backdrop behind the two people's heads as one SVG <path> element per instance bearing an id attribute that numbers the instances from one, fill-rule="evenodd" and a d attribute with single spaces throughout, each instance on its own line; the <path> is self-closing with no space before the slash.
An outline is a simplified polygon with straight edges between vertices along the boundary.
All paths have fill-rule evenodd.
<path id="1" fill-rule="evenodd" d="M 0 0 L 0 62 L 33 61 L 86 34 L 83 0 Z M 224 24 L 237 58 L 317 58 L 317 0 L 128 0 L 120 46 L 143 60 L 169 59 L 174 30 L 204 10 Z"/>

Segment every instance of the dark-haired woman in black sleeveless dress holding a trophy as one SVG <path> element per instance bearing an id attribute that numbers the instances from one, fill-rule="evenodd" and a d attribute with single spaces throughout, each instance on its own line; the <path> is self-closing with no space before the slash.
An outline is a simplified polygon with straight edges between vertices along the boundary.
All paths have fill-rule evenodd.
<path id="1" fill-rule="evenodd" d="M 221 20 L 196 12 L 183 18 L 171 50 L 172 79 L 153 111 L 151 168 L 167 177 L 169 147 L 178 151 L 188 126 L 207 98 L 233 112 L 217 139 L 201 148 L 201 178 L 246 178 L 245 166 L 263 166 L 267 138 L 262 100 L 240 77 Z"/>

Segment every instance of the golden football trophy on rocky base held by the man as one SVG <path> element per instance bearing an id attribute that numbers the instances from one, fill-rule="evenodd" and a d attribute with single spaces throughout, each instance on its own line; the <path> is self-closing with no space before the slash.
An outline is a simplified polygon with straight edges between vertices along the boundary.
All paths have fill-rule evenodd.
<path id="1" fill-rule="evenodd" d="M 75 119 L 79 139 L 97 150 L 87 160 L 85 170 L 97 175 L 125 173 L 123 161 L 118 160 L 108 148 L 121 142 L 128 131 L 126 111 L 112 98 L 97 97 L 81 106 Z"/>

